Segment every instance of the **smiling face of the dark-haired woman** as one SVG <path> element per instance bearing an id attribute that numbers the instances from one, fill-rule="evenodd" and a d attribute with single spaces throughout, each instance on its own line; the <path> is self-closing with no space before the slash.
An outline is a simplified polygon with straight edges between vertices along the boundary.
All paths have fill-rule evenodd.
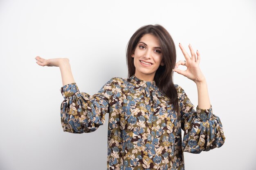
<path id="1" fill-rule="evenodd" d="M 132 57 L 135 76 L 144 81 L 153 81 L 159 65 L 164 65 L 159 40 L 152 34 L 141 37 Z"/>

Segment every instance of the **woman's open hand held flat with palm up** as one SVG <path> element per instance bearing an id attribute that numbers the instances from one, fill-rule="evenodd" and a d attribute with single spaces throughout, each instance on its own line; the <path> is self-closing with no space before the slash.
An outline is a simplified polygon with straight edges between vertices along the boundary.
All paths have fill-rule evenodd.
<path id="1" fill-rule="evenodd" d="M 36 56 L 35 59 L 37 60 L 36 63 L 38 65 L 41 65 L 41 66 L 46 65 L 46 66 L 49 66 L 49 67 L 52 67 L 52 66 L 59 67 L 61 65 L 61 63 L 69 62 L 68 58 L 44 59 L 42 57 Z"/>

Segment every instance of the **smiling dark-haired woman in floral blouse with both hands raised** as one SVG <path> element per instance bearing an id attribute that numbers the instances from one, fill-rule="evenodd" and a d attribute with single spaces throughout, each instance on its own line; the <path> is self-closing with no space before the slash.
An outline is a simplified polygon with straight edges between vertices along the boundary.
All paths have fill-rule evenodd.
<path id="1" fill-rule="evenodd" d="M 93 132 L 109 113 L 108 170 L 184 170 L 183 151 L 200 153 L 219 148 L 225 136 L 199 68 L 200 53 L 196 51 L 196 56 L 189 45 L 190 57 L 181 44 L 179 47 L 185 60 L 175 63 L 175 44 L 166 29 L 142 26 L 128 42 L 128 78 L 111 78 L 92 96 L 79 92 L 67 58 L 38 56 L 36 63 L 61 70 L 63 131 Z M 179 65 L 187 69 L 179 70 Z M 196 111 L 182 87 L 173 83 L 173 72 L 196 83 Z"/>

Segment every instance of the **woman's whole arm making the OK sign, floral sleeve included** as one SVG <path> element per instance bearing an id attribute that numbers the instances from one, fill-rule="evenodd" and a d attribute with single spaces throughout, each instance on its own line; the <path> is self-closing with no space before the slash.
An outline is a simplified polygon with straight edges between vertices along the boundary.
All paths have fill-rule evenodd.
<path id="1" fill-rule="evenodd" d="M 173 71 L 186 76 L 194 81 L 198 89 L 198 106 L 196 111 L 194 105 L 180 86 L 177 87 L 177 93 L 180 103 L 181 128 L 184 131 L 182 148 L 185 152 L 200 153 L 203 150 L 208 151 L 213 148 L 219 148 L 224 144 L 225 136 L 222 124 L 218 116 L 212 112 L 209 100 L 207 83 L 199 68 L 200 53 L 195 52 L 189 44 L 191 57 L 181 44 L 179 44 L 186 60 L 175 64 Z M 179 65 L 185 65 L 187 69 L 179 70 Z"/>

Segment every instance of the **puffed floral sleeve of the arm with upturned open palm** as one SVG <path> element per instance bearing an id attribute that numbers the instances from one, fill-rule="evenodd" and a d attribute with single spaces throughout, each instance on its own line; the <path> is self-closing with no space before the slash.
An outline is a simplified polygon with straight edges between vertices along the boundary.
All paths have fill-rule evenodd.
<path id="1" fill-rule="evenodd" d="M 90 96 L 79 92 L 76 83 L 61 87 L 64 98 L 61 103 L 61 125 L 63 131 L 70 133 L 89 133 L 96 131 L 105 122 L 112 100 L 113 78 L 97 94 Z"/>

